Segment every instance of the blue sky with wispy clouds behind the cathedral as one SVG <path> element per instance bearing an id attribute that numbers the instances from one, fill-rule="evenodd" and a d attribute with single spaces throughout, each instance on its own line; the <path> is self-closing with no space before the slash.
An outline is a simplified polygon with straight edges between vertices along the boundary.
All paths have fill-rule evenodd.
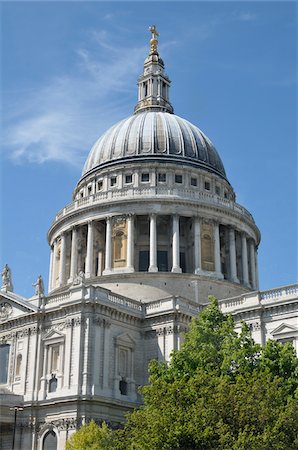
<path id="1" fill-rule="evenodd" d="M 260 287 L 297 281 L 295 2 L 2 2 L 1 268 L 32 296 L 94 141 L 132 114 L 148 26 L 175 113 L 215 144 L 262 233 Z"/>

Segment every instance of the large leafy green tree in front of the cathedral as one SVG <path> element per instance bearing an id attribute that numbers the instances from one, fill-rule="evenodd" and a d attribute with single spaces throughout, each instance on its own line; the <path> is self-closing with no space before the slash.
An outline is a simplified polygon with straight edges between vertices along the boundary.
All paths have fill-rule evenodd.
<path id="1" fill-rule="evenodd" d="M 234 331 L 215 298 L 195 317 L 169 363 L 153 361 L 144 405 L 108 446 L 67 450 L 294 450 L 298 448 L 298 360 L 291 345 Z M 111 432 L 110 432 L 111 433 Z M 106 444 L 105 444 L 106 445 Z"/>

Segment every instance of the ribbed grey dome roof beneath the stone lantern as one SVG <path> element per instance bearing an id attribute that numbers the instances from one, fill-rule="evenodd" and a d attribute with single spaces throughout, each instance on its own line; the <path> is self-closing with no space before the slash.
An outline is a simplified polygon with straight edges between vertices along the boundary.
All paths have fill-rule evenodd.
<path id="1" fill-rule="evenodd" d="M 215 147 L 199 128 L 179 116 L 154 110 L 140 111 L 104 133 L 91 149 L 82 175 L 135 158 L 190 164 L 226 178 Z"/>

